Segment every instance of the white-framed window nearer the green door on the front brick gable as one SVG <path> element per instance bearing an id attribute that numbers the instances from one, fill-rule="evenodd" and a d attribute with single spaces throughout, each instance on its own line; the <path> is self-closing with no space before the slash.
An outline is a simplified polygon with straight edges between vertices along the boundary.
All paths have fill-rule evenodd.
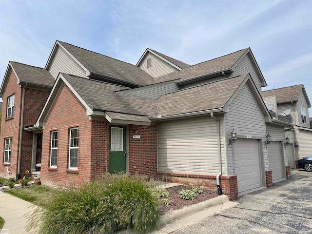
<path id="1" fill-rule="evenodd" d="M 69 169 L 78 169 L 79 128 L 71 128 L 69 131 Z"/>

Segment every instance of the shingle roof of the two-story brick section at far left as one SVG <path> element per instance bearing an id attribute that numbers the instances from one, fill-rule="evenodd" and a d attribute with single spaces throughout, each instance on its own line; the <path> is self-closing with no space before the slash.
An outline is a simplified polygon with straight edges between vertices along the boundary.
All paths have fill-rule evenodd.
<path id="1" fill-rule="evenodd" d="M 55 82 L 50 72 L 43 68 L 26 65 L 20 62 L 10 61 L 10 63 L 19 77 L 20 82 L 51 87 Z"/>

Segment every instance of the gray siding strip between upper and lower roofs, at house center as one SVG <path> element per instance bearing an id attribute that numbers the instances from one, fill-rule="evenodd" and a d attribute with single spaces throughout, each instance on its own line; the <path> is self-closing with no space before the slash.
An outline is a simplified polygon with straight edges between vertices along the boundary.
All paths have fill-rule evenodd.
<path id="1" fill-rule="evenodd" d="M 143 98 L 157 99 L 163 94 L 169 94 L 179 90 L 175 81 L 164 82 L 160 84 L 148 85 L 144 87 L 120 91 L 120 93 L 131 94 Z"/>

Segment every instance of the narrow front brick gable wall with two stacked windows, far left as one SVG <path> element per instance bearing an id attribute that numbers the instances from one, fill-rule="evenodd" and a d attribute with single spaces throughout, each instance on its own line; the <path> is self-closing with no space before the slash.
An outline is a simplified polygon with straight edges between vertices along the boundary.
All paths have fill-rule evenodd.
<path id="1" fill-rule="evenodd" d="M 16 177 L 19 158 L 19 136 L 20 136 L 20 112 L 21 112 L 21 88 L 17 84 L 14 72 L 11 72 L 8 83 L 3 94 L 1 134 L 0 134 L 0 176 Z M 7 98 L 15 94 L 14 117 L 6 118 Z M 12 137 L 11 164 L 4 162 L 4 139 Z M 11 174 L 7 173 L 7 169 Z"/>

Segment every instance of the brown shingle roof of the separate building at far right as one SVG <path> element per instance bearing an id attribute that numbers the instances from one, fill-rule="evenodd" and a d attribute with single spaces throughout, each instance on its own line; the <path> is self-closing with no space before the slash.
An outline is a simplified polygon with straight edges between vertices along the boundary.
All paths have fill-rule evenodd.
<path id="1" fill-rule="evenodd" d="M 287 101 L 298 101 L 302 88 L 303 84 L 298 84 L 284 88 L 262 91 L 262 97 L 267 98 L 275 96 L 277 103 Z"/>

